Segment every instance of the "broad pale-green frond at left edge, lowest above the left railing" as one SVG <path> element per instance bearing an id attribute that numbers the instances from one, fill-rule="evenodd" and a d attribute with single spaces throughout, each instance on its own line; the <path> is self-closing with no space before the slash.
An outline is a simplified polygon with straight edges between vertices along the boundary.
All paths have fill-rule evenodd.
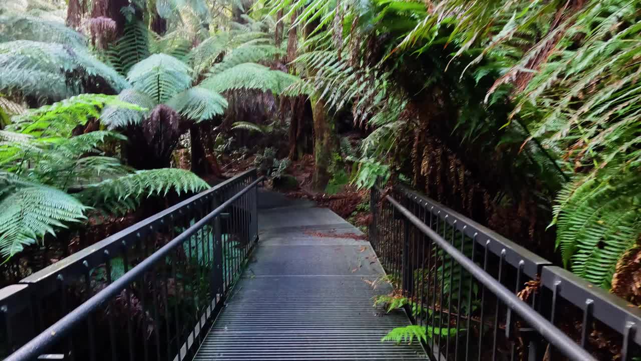
<path id="1" fill-rule="evenodd" d="M 0 207 L 3 209 L 0 213 L 3 258 L 10 258 L 45 234 L 55 234 L 54 227 L 79 222 L 88 209 L 71 195 L 40 184 L 21 184 L 12 192 L 0 195 Z"/>

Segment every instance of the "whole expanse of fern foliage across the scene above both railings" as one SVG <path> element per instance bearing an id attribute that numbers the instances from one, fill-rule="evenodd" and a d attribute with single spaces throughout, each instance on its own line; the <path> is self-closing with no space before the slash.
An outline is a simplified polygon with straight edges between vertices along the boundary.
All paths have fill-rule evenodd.
<path id="1" fill-rule="evenodd" d="M 4 256 L 88 207 L 205 188 L 169 169 L 185 137 L 206 175 L 224 128 L 279 123 L 292 161 L 313 152 L 315 190 L 354 163 L 354 184 L 411 182 L 596 285 L 632 272 L 637 1 L 73 3 L 0 8 Z M 339 139 L 344 119 L 360 148 Z"/>

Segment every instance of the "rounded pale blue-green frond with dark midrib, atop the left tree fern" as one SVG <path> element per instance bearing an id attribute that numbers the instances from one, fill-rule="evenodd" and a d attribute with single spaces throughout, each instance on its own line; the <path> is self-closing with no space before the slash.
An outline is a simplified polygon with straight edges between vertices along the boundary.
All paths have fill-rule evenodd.
<path id="1" fill-rule="evenodd" d="M 148 94 L 156 103 L 164 103 L 189 87 L 190 73 L 187 64 L 177 58 L 154 54 L 131 67 L 127 78 L 133 89 Z"/>

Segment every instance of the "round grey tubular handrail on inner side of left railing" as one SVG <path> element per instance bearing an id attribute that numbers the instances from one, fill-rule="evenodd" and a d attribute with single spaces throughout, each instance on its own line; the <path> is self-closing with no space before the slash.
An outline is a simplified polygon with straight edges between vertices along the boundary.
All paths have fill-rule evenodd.
<path id="1" fill-rule="evenodd" d="M 249 186 L 233 195 L 220 206 L 216 207 L 216 209 L 208 213 L 208 215 L 201 218 L 201 220 L 197 221 L 194 225 L 188 227 L 186 231 L 176 236 L 176 238 L 165 244 L 162 248 L 151 254 L 151 256 L 147 257 L 142 262 L 138 263 L 138 265 L 126 272 L 122 277 L 113 281 L 113 283 L 103 288 L 103 290 L 97 292 L 96 295 L 90 297 L 90 299 L 75 308 L 72 312 L 62 317 L 62 319 L 55 322 L 52 326 L 42 331 L 42 333 L 37 335 L 37 337 L 31 339 L 28 343 L 26 343 L 24 346 L 19 348 L 4 360 L 29 361 L 38 358 L 38 356 L 44 353 L 47 348 L 53 346 L 56 341 L 69 334 L 74 326 L 78 325 L 79 322 L 85 320 L 90 312 L 97 310 L 99 306 L 101 306 L 103 303 L 106 303 L 111 297 L 114 297 L 115 295 L 122 292 L 122 290 L 126 289 L 130 283 L 133 283 L 136 279 L 139 279 L 145 272 L 151 269 L 151 267 L 153 267 L 155 263 L 164 260 L 172 250 L 174 250 L 176 247 L 181 246 L 183 242 L 185 242 L 190 236 L 196 234 L 196 232 L 203 228 L 204 225 L 207 225 L 209 222 L 211 222 L 213 218 L 221 215 L 224 209 L 229 207 L 236 200 L 238 200 L 238 198 L 247 193 L 249 189 L 253 189 L 254 187 L 256 187 L 256 185 L 261 182 L 263 178 L 264 177 L 260 177 L 254 180 L 254 182 L 249 184 Z"/>

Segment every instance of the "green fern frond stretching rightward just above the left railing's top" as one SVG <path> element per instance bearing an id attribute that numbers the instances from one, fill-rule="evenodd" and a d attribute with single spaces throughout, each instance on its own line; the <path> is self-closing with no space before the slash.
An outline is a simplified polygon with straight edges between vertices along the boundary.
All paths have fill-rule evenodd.
<path id="1" fill-rule="evenodd" d="M 197 192 L 209 185 L 187 170 L 167 168 L 139 170 L 115 179 L 106 179 L 85 186 L 78 198 L 85 204 L 113 212 L 122 213 L 138 206 L 142 198 L 176 193 Z"/>

